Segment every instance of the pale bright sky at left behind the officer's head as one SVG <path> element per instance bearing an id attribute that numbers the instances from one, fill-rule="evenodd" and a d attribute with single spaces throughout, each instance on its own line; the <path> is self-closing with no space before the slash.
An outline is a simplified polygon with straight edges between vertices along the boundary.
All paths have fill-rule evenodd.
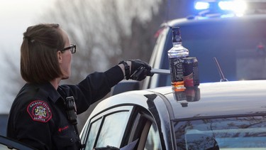
<path id="1" fill-rule="evenodd" d="M 47 11 L 55 0 L 0 0 L 0 113 L 14 97 L 5 92 L 9 85 L 9 73 L 19 73 L 20 46 L 23 32 L 28 26 L 38 23 L 38 16 Z M 9 70 L 5 57 L 9 57 L 18 70 Z M 13 72 L 12 72 L 13 71 Z M 11 101 L 11 102 L 10 102 Z"/>

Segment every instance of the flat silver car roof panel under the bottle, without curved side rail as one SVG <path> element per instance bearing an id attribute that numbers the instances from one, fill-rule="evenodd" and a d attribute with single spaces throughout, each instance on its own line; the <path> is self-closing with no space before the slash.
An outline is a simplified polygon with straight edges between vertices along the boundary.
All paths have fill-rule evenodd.
<path id="1" fill-rule="evenodd" d="M 199 100 L 187 104 L 176 100 L 170 87 L 154 90 L 159 91 L 171 103 L 175 119 L 266 112 L 266 80 L 203 83 Z"/>

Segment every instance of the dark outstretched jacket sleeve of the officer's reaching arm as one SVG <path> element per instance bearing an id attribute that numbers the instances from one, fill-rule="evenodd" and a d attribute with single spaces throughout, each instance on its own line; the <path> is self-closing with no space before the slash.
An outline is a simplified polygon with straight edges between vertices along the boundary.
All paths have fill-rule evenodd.
<path id="1" fill-rule="evenodd" d="M 92 73 L 79 82 L 78 85 L 61 85 L 67 97 L 74 96 L 77 105 L 77 114 L 81 114 L 94 102 L 101 100 L 110 91 L 111 87 L 123 80 L 123 71 L 116 65 L 104 73 Z"/>

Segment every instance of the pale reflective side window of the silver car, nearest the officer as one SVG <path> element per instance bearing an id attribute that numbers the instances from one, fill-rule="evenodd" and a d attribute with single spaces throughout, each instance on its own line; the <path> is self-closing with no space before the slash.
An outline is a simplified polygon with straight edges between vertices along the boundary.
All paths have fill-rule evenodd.
<path id="1" fill-rule="evenodd" d="M 88 124 L 85 150 L 94 147 L 120 147 L 132 107 L 116 107 L 96 115 Z"/>

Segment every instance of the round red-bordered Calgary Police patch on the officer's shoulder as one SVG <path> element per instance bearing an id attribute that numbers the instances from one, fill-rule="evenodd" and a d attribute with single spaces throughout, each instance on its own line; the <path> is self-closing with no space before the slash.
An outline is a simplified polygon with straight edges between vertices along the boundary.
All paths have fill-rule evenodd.
<path id="1" fill-rule="evenodd" d="M 28 114 L 37 122 L 48 122 L 52 118 L 52 112 L 49 105 L 41 100 L 35 100 L 28 105 Z"/>

